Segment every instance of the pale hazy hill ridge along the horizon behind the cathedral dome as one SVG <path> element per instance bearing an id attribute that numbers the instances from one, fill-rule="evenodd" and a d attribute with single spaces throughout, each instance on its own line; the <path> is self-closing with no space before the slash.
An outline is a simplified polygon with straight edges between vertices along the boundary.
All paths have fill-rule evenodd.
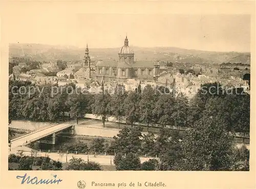
<path id="1" fill-rule="evenodd" d="M 182 63 L 222 63 L 222 62 L 250 62 L 250 53 L 238 52 L 207 52 L 187 50 L 175 47 L 140 48 L 131 46 L 135 53 L 135 60 L 161 60 Z M 93 59 L 118 59 L 119 48 L 90 49 Z M 82 60 L 84 49 L 75 46 L 60 46 L 48 44 L 10 43 L 9 57 L 26 57 L 36 61 L 51 60 Z"/>

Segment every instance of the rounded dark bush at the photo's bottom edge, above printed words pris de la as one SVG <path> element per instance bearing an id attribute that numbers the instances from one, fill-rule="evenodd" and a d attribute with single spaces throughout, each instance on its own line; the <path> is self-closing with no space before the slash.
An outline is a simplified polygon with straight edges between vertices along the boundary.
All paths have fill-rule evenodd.
<path id="1" fill-rule="evenodd" d="M 114 163 L 117 171 L 140 170 L 140 158 L 134 153 L 128 153 L 126 156 L 118 154 L 117 158 L 114 158 Z"/>

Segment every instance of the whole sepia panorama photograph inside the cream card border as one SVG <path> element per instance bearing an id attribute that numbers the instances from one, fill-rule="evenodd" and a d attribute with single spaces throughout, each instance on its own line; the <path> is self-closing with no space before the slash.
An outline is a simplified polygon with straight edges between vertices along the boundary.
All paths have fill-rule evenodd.
<path id="1" fill-rule="evenodd" d="M 10 21 L 8 170 L 250 170 L 250 15 Z"/>

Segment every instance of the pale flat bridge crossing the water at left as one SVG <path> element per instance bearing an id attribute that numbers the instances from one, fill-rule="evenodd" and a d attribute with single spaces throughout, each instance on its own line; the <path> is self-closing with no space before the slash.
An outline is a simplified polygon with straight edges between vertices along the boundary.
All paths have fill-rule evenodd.
<path id="1" fill-rule="evenodd" d="M 11 148 L 15 149 L 20 146 L 25 146 L 35 141 L 39 143 L 55 144 L 55 135 L 63 130 L 71 129 L 74 132 L 74 125 L 70 123 L 51 124 L 35 130 L 26 135 L 14 138 L 11 140 Z M 46 137 L 51 137 L 51 141 L 45 140 Z"/>

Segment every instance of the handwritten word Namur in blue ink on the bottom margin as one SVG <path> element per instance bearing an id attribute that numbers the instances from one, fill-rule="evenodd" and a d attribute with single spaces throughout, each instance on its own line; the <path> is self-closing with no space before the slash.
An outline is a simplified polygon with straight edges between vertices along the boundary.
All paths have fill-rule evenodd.
<path id="1" fill-rule="evenodd" d="M 57 175 L 53 175 L 52 179 L 38 179 L 37 177 L 31 177 L 27 176 L 27 173 L 25 173 L 24 176 L 16 176 L 17 179 L 22 179 L 22 182 L 20 184 L 58 184 L 61 182 L 61 179 L 56 179 Z"/>

